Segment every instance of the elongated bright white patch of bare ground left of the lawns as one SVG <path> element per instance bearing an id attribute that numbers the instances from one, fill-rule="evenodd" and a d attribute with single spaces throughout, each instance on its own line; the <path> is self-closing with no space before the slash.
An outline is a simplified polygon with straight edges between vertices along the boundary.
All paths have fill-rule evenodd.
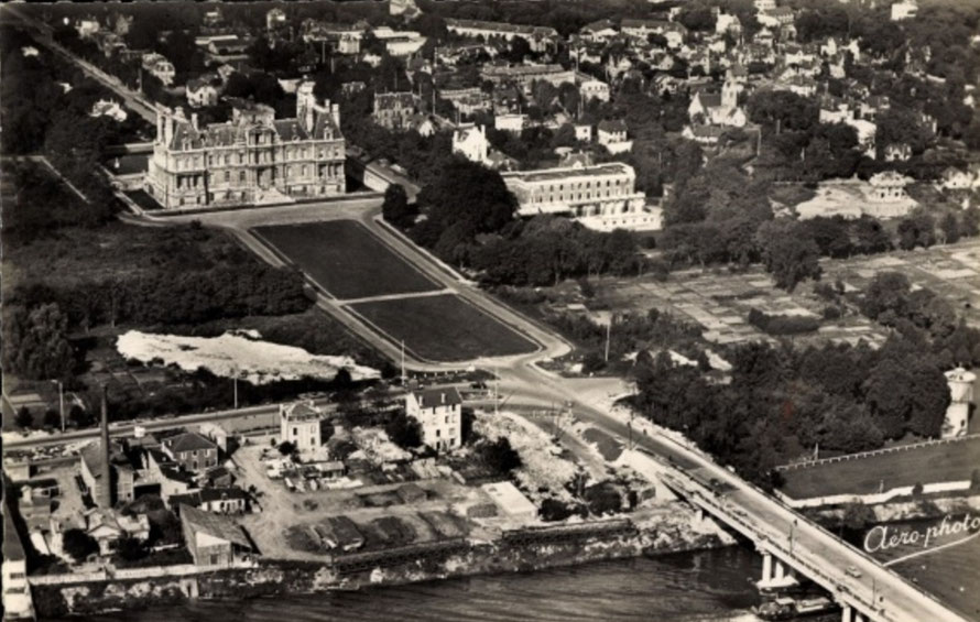
<path id="1" fill-rule="evenodd" d="M 220 337 L 182 337 L 130 330 L 116 342 L 127 359 L 163 361 L 184 371 L 204 368 L 215 375 L 238 377 L 252 384 L 316 378 L 331 380 L 341 369 L 352 380 L 380 378 L 378 370 L 359 365 L 350 357 L 311 354 L 303 348 L 262 341 L 255 331 L 226 332 Z"/>

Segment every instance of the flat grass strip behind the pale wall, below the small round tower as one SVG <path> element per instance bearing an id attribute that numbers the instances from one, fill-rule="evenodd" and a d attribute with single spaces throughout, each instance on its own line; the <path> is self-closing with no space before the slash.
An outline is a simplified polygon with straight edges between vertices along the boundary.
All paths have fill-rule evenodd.
<path id="1" fill-rule="evenodd" d="M 980 437 L 856 460 L 783 471 L 782 491 L 795 499 L 868 494 L 879 488 L 969 480 L 980 468 Z"/>

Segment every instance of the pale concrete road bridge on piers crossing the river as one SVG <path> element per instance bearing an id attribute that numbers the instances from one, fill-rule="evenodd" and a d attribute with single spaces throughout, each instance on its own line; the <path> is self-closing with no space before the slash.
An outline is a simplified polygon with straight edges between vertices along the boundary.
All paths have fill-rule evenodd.
<path id="1" fill-rule="evenodd" d="M 708 479 L 708 474 L 712 476 Z M 934 597 L 761 490 L 704 469 L 675 470 L 664 482 L 719 523 L 755 544 L 761 589 L 805 577 L 831 594 L 842 622 L 960 621 Z"/>

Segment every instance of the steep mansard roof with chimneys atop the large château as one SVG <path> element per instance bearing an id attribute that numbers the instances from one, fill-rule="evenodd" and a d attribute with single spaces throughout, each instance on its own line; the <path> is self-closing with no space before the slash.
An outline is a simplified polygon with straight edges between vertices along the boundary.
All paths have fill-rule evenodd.
<path id="1" fill-rule="evenodd" d="M 335 123 L 333 116 L 323 112 L 316 114 L 312 132 L 307 132 L 303 123 L 296 118 L 276 119 L 271 123 L 257 122 L 243 118 L 238 121 L 210 123 L 204 128 L 195 129 L 192 121 L 175 117 L 174 134 L 171 139 L 170 149 L 181 151 L 244 144 L 248 134 L 255 130 L 273 132 L 276 137 L 275 142 L 341 138 L 340 129 Z"/>

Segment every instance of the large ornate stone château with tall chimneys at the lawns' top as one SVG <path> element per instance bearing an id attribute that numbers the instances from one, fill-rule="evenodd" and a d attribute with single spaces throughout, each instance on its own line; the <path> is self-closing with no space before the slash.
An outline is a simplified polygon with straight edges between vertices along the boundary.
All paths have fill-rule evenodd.
<path id="1" fill-rule="evenodd" d="M 160 107 L 146 188 L 167 209 L 269 205 L 345 192 L 340 108 L 296 90 L 296 117 L 236 100 L 232 118 L 199 127 L 197 114 Z"/>

